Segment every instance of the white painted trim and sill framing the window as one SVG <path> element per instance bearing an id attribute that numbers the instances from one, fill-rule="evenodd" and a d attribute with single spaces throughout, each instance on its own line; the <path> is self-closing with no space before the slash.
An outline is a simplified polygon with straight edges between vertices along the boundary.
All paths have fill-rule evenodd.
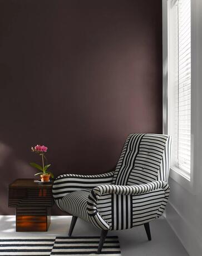
<path id="1" fill-rule="evenodd" d="M 167 22 L 167 18 L 169 17 L 168 14 L 169 8 L 167 0 L 162 0 L 162 62 L 163 62 L 163 88 L 162 88 L 162 113 L 163 113 L 163 124 L 162 130 L 164 134 L 169 134 L 169 48 L 168 48 L 168 40 L 169 40 L 169 22 Z M 170 178 L 175 180 L 184 189 L 190 191 L 191 194 L 196 194 L 196 177 L 195 177 L 195 169 L 196 166 L 200 166 L 200 159 L 198 156 L 194 154 L 194 151 L 197 151 L 198 144 L 194 144 L 194 137 L 200 136 L 200 132 L 198 131 L 198 115 L 199 114 L 199 95 L 198 95 L 198 86 L 199 83 L 196 81 L 196 72 L 198 71 L 197 67 L 197 55 L 196 50 L 196 21 L 193 15 L 193 11 L 195 12 L 195 1 L 191 1 L 191 172 L 190 176 L 185 175 L 185 173 L 177 168 L 176 166 L 171 166 L 170 168 Z M 193 61 L 196 60 L 196 61 Z M 195 68 L 195 69 L 194 69 Z M 198 147 L 199 149 L 199 147 Z M 197 154 L 199 155 L 199 154 Z"/>

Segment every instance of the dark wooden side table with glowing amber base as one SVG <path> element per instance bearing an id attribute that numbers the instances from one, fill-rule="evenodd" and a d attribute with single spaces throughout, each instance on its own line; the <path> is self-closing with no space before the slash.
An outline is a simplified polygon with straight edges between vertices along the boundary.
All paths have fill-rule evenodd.
<path id="1" fill-rule="evenodd" d="M 9 185 L 8 207 L 16 208 L 16 231 L 47 231 L 53 205 L 52 184 L 17 179 Z"/>

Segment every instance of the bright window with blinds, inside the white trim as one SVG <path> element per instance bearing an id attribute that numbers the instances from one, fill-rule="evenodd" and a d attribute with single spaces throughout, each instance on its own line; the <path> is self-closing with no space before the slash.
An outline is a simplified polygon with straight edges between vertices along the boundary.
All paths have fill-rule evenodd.
<path id="1" fill-rule="evenodd" d="M 169 122 L 172 165 L 191 170 L 191 0 L 169 1 Z"/>

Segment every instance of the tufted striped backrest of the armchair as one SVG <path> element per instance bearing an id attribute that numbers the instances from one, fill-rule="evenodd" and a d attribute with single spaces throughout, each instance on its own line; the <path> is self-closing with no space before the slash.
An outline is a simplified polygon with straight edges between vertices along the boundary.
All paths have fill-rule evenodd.
<path id="1" fill-rule="evenodd" d="M 171 137 L 130 134 L 117 163 L 113 184 L 135 185 L 168 180 Z"/>

